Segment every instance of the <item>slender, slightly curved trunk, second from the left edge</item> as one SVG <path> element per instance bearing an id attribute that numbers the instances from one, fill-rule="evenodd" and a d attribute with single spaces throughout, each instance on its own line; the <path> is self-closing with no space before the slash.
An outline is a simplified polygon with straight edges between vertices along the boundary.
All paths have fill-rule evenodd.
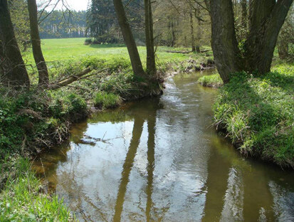
<path id="1" fill-rule="evenodd" d="M 28 0 L 28 15 L 30 18 L 31 43 L 33 46 L 33 58 L 38 68 L 38 85 L 49 85 L 48 69 L 41 49 L 41 40 L 38 31 L 38 12 L 36 0 Z"/>

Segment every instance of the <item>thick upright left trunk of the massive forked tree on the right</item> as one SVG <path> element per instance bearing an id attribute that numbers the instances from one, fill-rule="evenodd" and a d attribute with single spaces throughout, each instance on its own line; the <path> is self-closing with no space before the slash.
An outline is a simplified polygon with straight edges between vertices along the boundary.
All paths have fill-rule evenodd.
<path id="1" fill-rule="evenodd" d="M 216 68 L 224 83 L 228 83 L 229 73 L 240 70 L 231 0 L 211 1 L 211 33 Z"/>

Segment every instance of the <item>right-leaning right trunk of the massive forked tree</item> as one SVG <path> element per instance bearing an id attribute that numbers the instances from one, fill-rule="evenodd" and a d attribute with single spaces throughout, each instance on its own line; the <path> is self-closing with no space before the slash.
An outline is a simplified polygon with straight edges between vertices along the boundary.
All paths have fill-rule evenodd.
<path id="1" fill-rule="evenodd" d="M 246 70 L 261 74 L 271 70 L 278 33 L 292 3 L 293 0 L 251 0 Z"/>

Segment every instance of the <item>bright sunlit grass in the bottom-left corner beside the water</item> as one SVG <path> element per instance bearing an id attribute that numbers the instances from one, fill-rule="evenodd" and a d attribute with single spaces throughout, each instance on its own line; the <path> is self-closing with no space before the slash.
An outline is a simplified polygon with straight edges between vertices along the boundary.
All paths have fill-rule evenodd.
<path id="1" fill-rule="evenodd" d="M 7 179 L 0 194 L 0 221 L 75 221 L 62 200 L 41 192 L 40 181 L 31 171 L 27 159 L 5 164 L 9 166 L 0 164 L 1 174 L 11 167 L 16 174 Z"/>

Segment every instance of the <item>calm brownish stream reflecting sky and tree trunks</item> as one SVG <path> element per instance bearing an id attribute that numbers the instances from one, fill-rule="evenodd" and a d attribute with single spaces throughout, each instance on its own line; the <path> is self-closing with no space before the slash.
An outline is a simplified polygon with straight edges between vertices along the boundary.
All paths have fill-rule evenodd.
<path id="1" fill-rule="evenodd" d="M 211 127 L 200 73 L 98 112 L 34 168 L 80 221 L 294 221 L 294 174 L 241 157 Z"/>

